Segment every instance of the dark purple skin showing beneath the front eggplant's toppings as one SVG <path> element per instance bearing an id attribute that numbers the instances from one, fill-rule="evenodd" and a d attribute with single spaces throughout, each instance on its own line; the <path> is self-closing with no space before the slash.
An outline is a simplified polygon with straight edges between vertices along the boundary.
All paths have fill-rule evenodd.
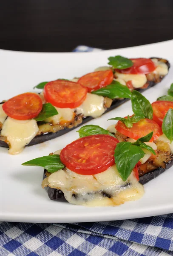
<path id="1" fill-rule="evenodd" d="M 166 171 L 167 169 L 169 169 L 171 166 L 173 166 L 173 160 L 169 161 L 168 163 L 166 163 L 166 168 L 162 168 L 162 167 L 159 167 L 157 168 L 156 170 L 152 171 L 152 172 L 148 172 L 146 173 L 145 175 L 139 177 L 139 182 L 144 185 L 146 184 L 147 182 L 149 182 L 150 180 L 153 180 L 155 179 L 157 176 L 161 175 L 164 171 Z M 44 172 L 43 172 L 43 180 L 44 178 L 46 178 L 47 176 L 45 175 L 46 173 L 46 170 L 44 169 Z M 59 202 L 67 202 L 67 200 L 65 199 L 65 196 L 64 196 L 64 193 L 62 192 L 62 190 L 60 189 L 52 189 L 50 188 L 49 186 L 45 187 L 45 190 L 47 191 L 48 193 L 48 197 L 51 199 L 51 200 L 54 200 L 54 201 L 59 201 Z M 111 195 L 108 195 L 108 194 L 105 194 L 104 195 L 108 198 L 111 198 Z M 75 197 L 75 194 L 74 194 L 74 197 Z"/>

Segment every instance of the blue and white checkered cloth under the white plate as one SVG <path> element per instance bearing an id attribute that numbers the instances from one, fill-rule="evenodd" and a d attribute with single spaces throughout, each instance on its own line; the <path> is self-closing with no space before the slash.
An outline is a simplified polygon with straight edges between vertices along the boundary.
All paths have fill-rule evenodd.
<path id="1" fill-rule="evenodd" d="M 0 256 L 167 255 L 173 256 L 173 214 L 73 224 L 0 223 Z"/>

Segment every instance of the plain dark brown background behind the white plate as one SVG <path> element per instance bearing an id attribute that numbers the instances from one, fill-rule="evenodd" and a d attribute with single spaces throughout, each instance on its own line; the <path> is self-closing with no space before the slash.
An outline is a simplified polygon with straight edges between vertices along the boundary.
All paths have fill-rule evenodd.
<path id="1" fill-rule="evenodd" d="M 173 39 L 173 0 L 0 0 L 0 48 L 71 51 Z"/>

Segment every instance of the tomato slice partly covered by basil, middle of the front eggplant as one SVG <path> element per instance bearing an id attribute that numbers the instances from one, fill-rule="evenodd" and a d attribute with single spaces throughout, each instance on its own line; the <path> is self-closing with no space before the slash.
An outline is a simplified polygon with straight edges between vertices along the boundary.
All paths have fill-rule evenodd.
<path id="1" fill-rule="evenodd" d="M 124 134 L 125 136 L 134 140 L 138 140 L 139 138 L 144 137 L 145 135 L 153 131 L 153 137 L 150 140 L 150 142 L 152 142 L 162 134 L 162 129 L 160 128 L 160 126 L 153 120 L 147 118 L 141 119 L 139 122 L 133 124 L 132 128 L 128 128 L 125 126 L 124 123 L 118 121 L 115 128 L 121 134 Z"/>

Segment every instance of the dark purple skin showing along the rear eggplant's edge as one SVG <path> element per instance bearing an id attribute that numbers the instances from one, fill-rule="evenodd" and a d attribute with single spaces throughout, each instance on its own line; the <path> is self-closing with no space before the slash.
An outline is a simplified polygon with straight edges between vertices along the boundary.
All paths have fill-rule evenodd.
<path id="1" fill-rule="evenodd" d="M 152 58 L 155 58 L 155 57 L 152 57 Z M 160 58 L 157 58 L 157 59 L 162 60 Z M 167 60 L 163 60 L 163 61 L 167 65 L 168 70 L 169 70 L 170 63 Z M 164 76 L 160 76 L 159 81 L 147 81 L 147 83 L 149 84 L 147 88 L 144 88 L 144 89 L 139 88 L 139 89 L 136 89 L 136 90 L 138 90 L 140 93 L 142 93 L 145 90 L 149 89 L 150 87 L 153 87 L 154 85 L 156 85 L 158 82 L 162 81 L 163 78 L 164 78 Z M 122 105 L 124 102 L 127 102 L 129 100 L 130 99 L 113 99 L 111 107 L 107 108 L 107 110 L 103 114 L 113 110 L 114 108 L 117 108 L 119 105 Z M 1 103 L 3 103 L 3 102 L 1 102 Z M 87 117 L 83 118 L 82 123 L 80 123 L 79 125 L 74 126 L 72 128 L 64 128 L 63 130 L 57 131 L 55 133 L 45 133 L 45 134 L 38 135 L 38 136 L 34 137 L 34 139 L 32 139 L 31 142 L 28 143 L 28 145 L 26 145 L 26 147 L 36 145 L 36 144 L 39 144 L 39 143 L 43 143 L 43 142 L 48 141 L 48 140 L 55 139 L 55 138 L 57 138 L 57 137 L 59 137 L 63 134 L 68 133 L 69 131 L 72 131 L 72 130 L 76 129 L 77 127 L 79 127 L 81 125 L 84 125 L 86 122 L 89 122 L 92 119 L 94 119 L 94 118 L 91 117 L 91 116 L 87 116 Z M 9 145 L 6 142 L 1 141 L 1 140 L 0 140 L 0 146 L 5 147 L 5 148 L 9 148 Z"/>

